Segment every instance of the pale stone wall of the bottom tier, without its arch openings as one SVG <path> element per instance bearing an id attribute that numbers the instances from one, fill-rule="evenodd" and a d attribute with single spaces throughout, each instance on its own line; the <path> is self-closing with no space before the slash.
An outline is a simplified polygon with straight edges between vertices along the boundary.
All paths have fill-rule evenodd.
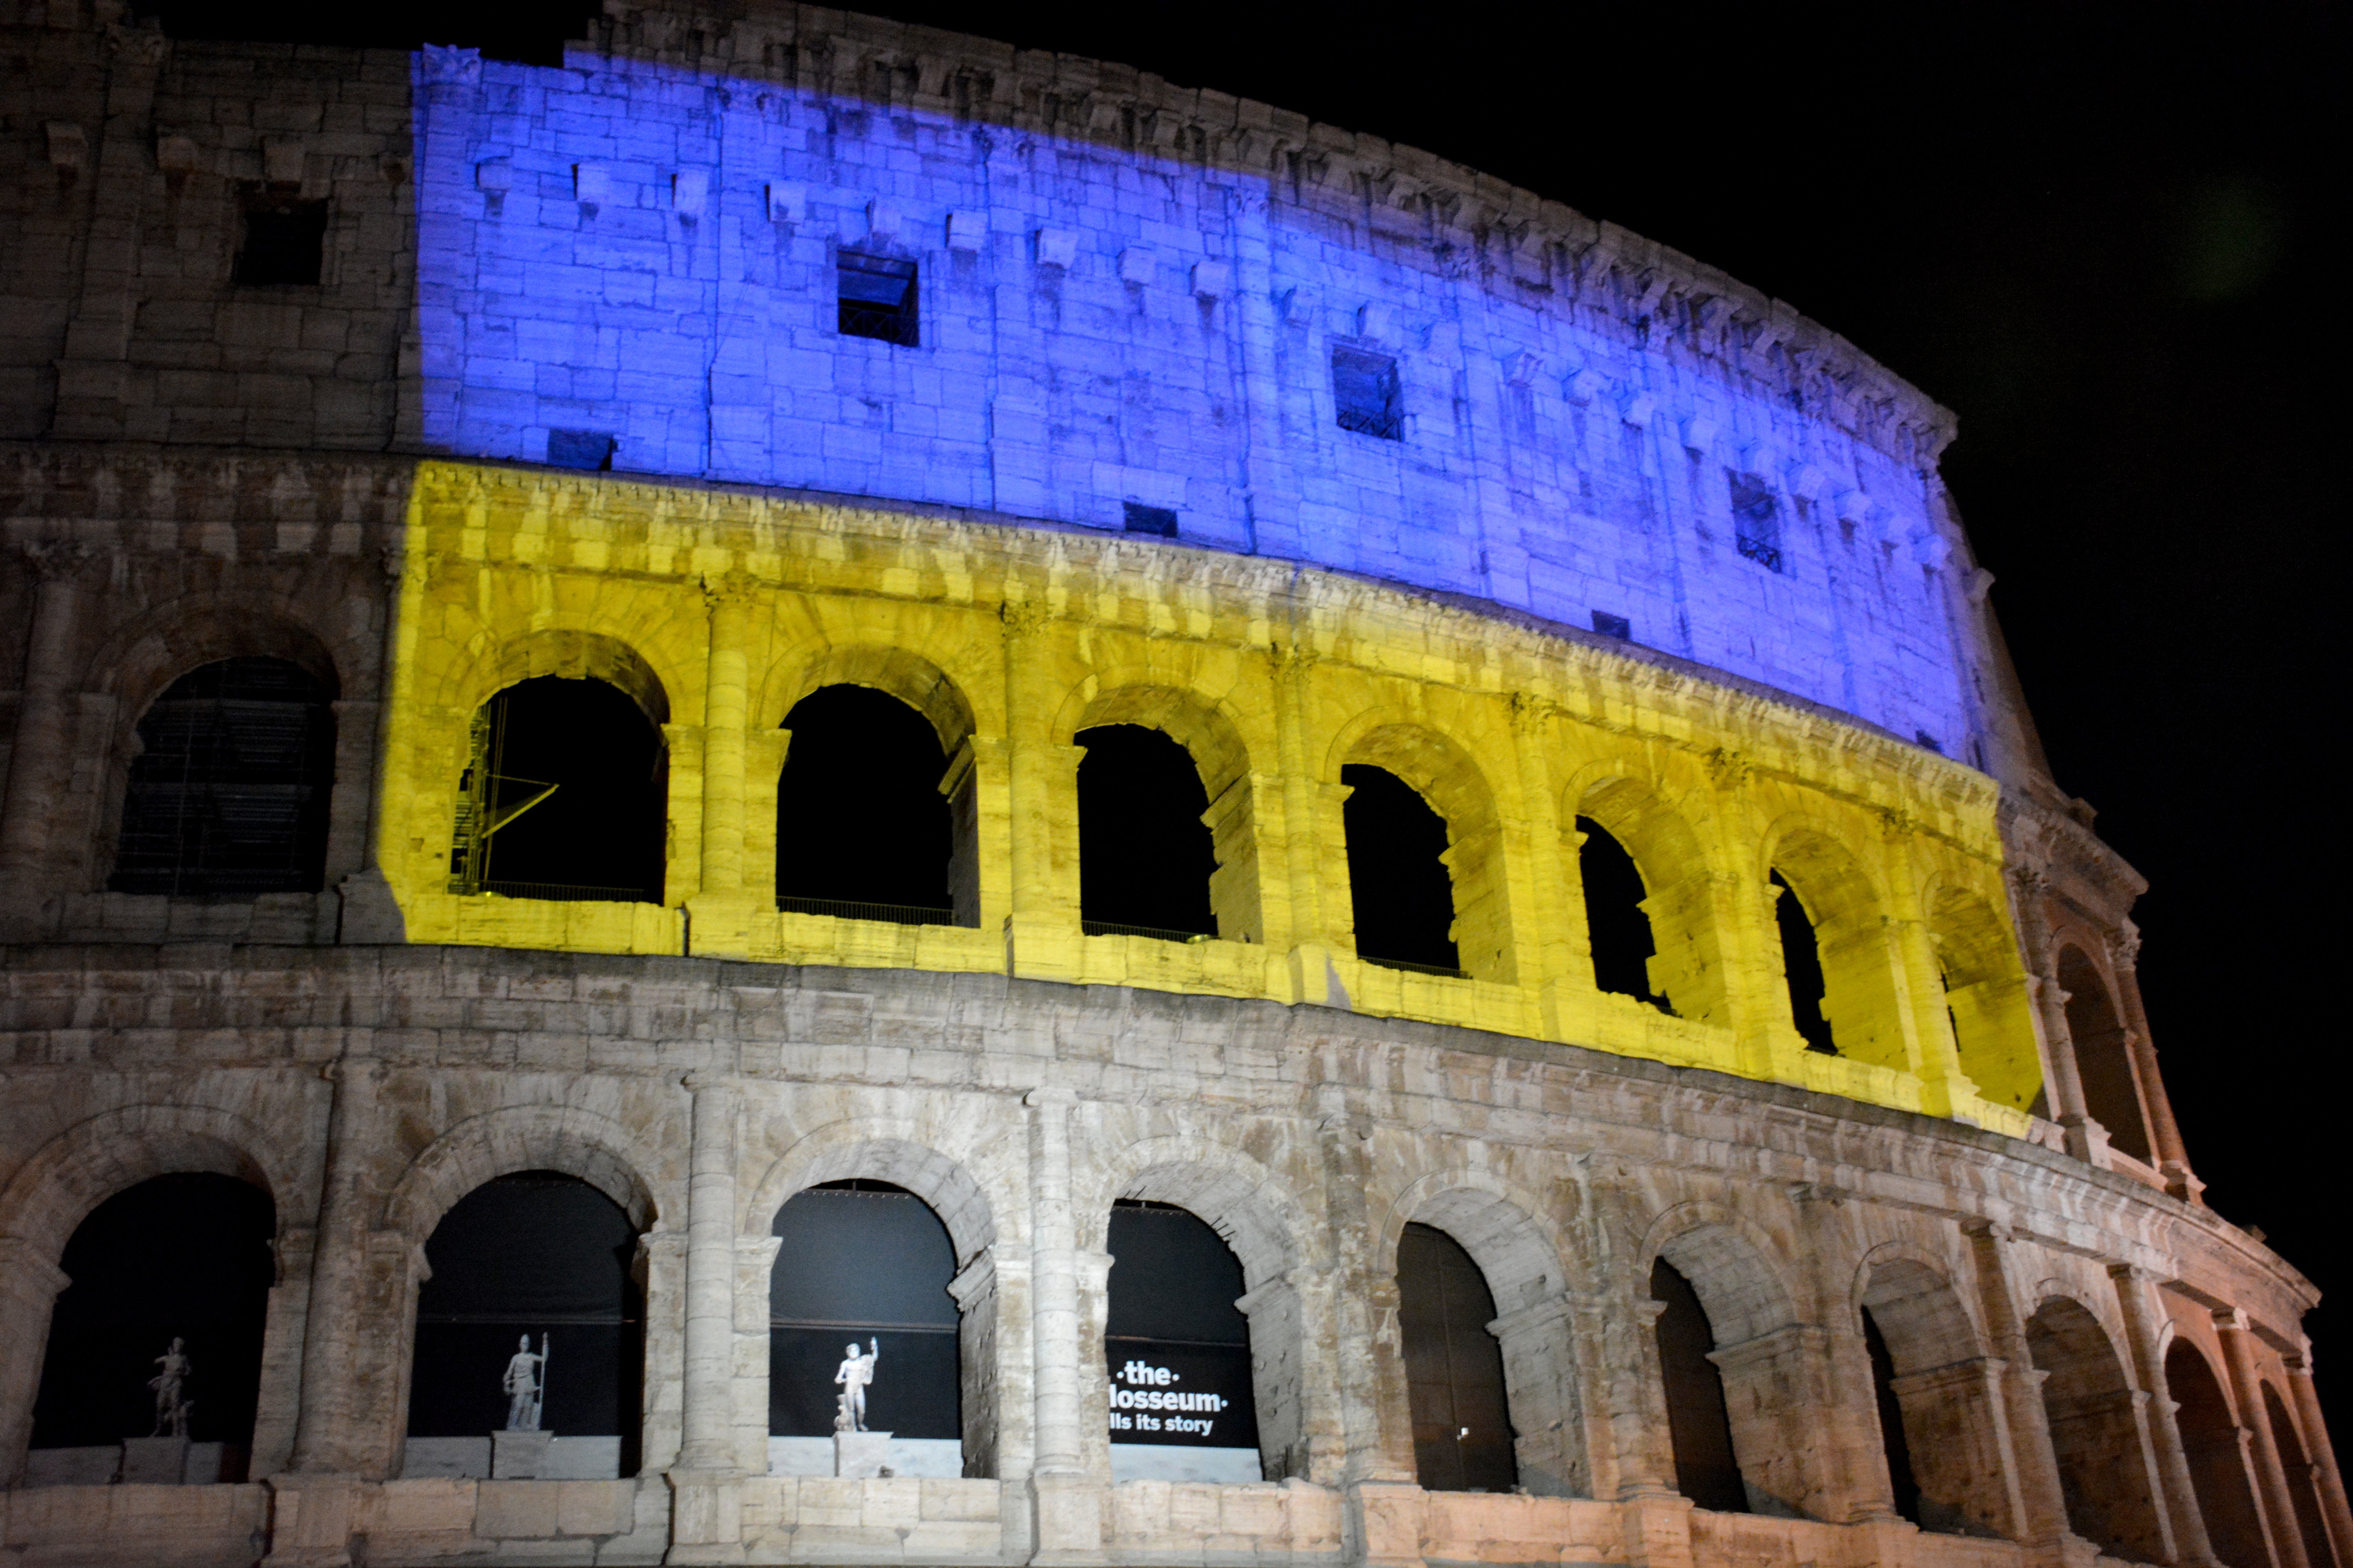
<path id="1" fill-rule="evenodd" d="M 256 1474 L 275 1476 L 280 1521 L 289 1493 L 341 1497 L 391 1554 L 376 1561 L 494 1540 L 541 1540 L 548 1561 L 654 1561 L 666 1542 L 835 1561 L 889 1530 L 918 1533 L 925 1561 L 1179 1561 L 1217 1537 L 1322 1561 L 1334 1535 L 1353 1561 L 1419 1561 L 1515 1528 L 1551 1544 L 1508 1561 L 1569 1561 L 1595 1537 L 1574 1561 L 1732 1561 L 1725 1533 L 1777 1540 L 1774 1556 L 1814 1542 L 1802 1561 L 1944 1561 L 1960 1537 L 1889 1512 L 1857 1371 L 1868 1305 L 1941 1528 L 1979 1537 L 1969 1561 L 2007 1563 L 2064 1530 L 2014 1342 L 2049 1302 L 2097 1324 L 2094 1349 L 2144 1394 L 2160 1335 L 2238 1335 L 2219 1363 L 2242 1359 L 2249 1389 L 2304 1363 L 2311 1288 L 2202 1208 L 2035 1145 L 1713 1072 L 1002 976 L 464 947 L 282 950 L 226 973 L 155 957 L 7 950 L 0 1246 L 54 1265 L 80 1215 L 148 1171 L 268 1187 L 285 1274 Z M 449 1204 L 520 1168 L 591 1180 L 645 1232 L 645 1483 L 546 1483 L 525 1507 L 496 1483 L 395 1479 L 419 1248 Z M 967 1408 L 965 1483 L 758 1476 L 769 1220 L 852 1175 L 918 1192 L 955 1241 L 967 1378 L 988 1389 Z M 1184 1204 L 1240 1255 L 1280 1486 L 1108 1483 L 1092 1335 L 1118 1197 Z M 1414 1486 L 1388 1284 L 1409 1220 L 1459 1237 L 1489 1279 L 1534 1497 Z M 1659 1255 L 1708 1307 L 1755 1519 L 1701 1523 L 1664 1495 Z M 722 1281 L 732 1345 L 711 1359 L 696 1279 Z M 21 1455 L 47 1295 L 7 1300 L 0 1415 Z M 2179 1439 L 2167 1403 L 2144 1406 L 2146 1436 L 2115 1460 L 2155 1476 L 2174 1521 Z M 696 1465 L 699 1429 L 720 1446 Z M 132 1507 L 42 1509 L 9 1528 L 49 1544 L 141 1528 Z"/>

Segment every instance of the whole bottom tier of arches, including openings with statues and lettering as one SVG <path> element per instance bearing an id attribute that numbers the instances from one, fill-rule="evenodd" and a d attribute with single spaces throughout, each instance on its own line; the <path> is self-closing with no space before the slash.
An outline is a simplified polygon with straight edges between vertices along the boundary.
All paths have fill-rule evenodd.
<path id="1" fill-rule="evenodd" d="M 0 1507 L 26 1561 L 247 1537 L 285 1563 L 358 1537 L 369 1563 L 2353 1561 L 2311 1288 L 2212 1211 L 1977 1128 L 1000 976 L 191 957 L 0 959 Z M 136 1211 L 155 1182 L 179 1211 Z M 198 1284 L 108 1272 L 94 1239 L 193 1234 L 136 1213 L 212 1190 L 268 1199 L 245 1403 L 193 1338 L 188 1387 L 160 1387 L 179 1347 L 144 1340 Z M 880 1288 L 887 1232 L 913 1262 Z M 1191 1262 L 1153 1274 L 1151 1232 Z M 1228 1267 L 1224 1319 L 1176 1309 Z M 534 1269 L 576 1288 L 532 1295 Z M 873 1425 L 920 1406 L 889 1420 L 941 1469 L 784 1458 L 849 1465 L 842 1340 L 842 1373 L 880 1354 Z M 127 1371 L 73 1382 L 68 1345 Z M 42 1458 L 106 1446 L 59 1387 L 146 1375 L 106 1418 L 111 1472 Z M 612 1387 L 581 1396 L 591 1375 Z M 929 1403 L 889 1403 L 922 1378 Z M 419 1458 L 518 1448 L 534 1380 L 555 1443 L 612 1439 L 602 1472 Z M 1209 1401 L 1247 1406 L 1247 1443 L 1136 1458 L 1146 1418 Z M 249 1415 L 214 1432 L 214 1408 Z M 174 1432 L 245 1481 L 139 1483 L 132 1446 Z"/>

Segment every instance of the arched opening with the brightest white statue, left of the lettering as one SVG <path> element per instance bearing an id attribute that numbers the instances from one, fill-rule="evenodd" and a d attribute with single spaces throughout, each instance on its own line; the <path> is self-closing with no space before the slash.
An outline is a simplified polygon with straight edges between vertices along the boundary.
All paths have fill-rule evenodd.
<path id="1" fill-rule="evenodd" d="M 962 1476 L 955 1244 L 932 1206 L 892 1182 L 824 1182 L 769 1229 L 769 1474 Z"/>

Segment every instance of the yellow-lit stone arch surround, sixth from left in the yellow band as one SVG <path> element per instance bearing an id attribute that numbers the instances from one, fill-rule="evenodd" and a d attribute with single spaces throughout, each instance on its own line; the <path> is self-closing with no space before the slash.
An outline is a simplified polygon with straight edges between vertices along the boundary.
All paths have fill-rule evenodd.
<path id="1" fill-rule="evenodd" d="M 1779 872 L 1814 926 L 1821 950 L 1821 1016 L 1831 1023 L 1838 1053 L 1913 1072 L 1897 1009 L 1887 900 L 1866 870 L 1868 860 L 1845 835 L 1802 816 L 1779 823 L 1765 835 L 1765 844 L 1758 879 Z"/>

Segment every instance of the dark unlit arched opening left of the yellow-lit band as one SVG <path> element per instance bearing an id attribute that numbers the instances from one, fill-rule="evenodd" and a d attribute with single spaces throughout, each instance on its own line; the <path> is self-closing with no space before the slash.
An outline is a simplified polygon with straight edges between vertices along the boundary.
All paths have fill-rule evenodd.
<path id="1" fill-rule="evenodd" d="M 139 719 L 118 893 L 315 893 L 327 865 L 334 691 L 285 658 L 224 658 Z"/>

